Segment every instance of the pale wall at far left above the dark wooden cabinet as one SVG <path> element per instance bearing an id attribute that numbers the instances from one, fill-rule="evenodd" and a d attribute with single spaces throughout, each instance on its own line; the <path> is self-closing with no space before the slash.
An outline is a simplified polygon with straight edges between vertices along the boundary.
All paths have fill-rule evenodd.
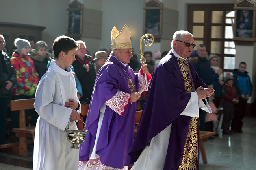
<path id="1" fill-rule="evenodd" d="M 58 35 L 65 35 L 69 0 L 1 0 L 0 21 L 46 27 L 42 38 L 52 47 Z"/>

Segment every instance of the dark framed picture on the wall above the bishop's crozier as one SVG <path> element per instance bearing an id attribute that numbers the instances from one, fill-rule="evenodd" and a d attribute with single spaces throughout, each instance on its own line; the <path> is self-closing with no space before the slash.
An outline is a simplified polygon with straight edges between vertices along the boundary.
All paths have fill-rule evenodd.
<path id="1" fill-rule="evenodd" d="M 155 42 L 160 42 L 163 24 L 163 3 L 149 0 L 143 7 L 143 35 L 152 34 Z"/>

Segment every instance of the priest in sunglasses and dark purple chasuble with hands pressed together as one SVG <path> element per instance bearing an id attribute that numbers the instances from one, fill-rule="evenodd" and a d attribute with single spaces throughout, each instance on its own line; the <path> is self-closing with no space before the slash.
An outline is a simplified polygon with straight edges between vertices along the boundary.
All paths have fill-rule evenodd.
<path id="1" fill-rule="evenodd" d="M 213 88 L 197 75 L 186 58 L 193 35 L 177 31 L 172 49 L 156 66 L 134 143 L 131 170 L 199 170 L 199 112 L 211 109 L 206 97 Z"/>

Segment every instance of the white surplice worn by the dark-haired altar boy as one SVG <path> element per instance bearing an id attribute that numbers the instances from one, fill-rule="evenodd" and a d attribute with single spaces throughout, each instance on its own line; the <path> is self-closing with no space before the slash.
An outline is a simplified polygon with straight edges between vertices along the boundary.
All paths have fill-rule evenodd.
<path id="1" fill-rule="evenodd" d="M 35 129 L 33 170 L 77 170 L 79 150 L 70 148 L 72 144 L 64 131 L 72 112 L 64 105 L 69 98 L 79 102 L 76 94 L 71 69 L 63 70 L 52 61 L 35 95 L 34 107 L 39 118 Z M 69 123 L 69 130 L 77 130 L 75 122 Z"/>

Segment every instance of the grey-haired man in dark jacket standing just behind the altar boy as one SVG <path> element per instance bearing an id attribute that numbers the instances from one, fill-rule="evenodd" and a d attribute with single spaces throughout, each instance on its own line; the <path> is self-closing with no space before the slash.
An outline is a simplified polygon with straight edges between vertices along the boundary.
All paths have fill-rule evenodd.
<path id="1" fill-rule="evenodd" d="M 73 62 L 76 76 L 81 83 L 83 96 L 80 98 L 81 104 L 89 104 L 93 85 L 96 79 L 93 57 L 86 54 L 85 42 L 78 40 L 76 43 L 80 44 L 80 48 L 76 50 L 76 60 Z"/>

